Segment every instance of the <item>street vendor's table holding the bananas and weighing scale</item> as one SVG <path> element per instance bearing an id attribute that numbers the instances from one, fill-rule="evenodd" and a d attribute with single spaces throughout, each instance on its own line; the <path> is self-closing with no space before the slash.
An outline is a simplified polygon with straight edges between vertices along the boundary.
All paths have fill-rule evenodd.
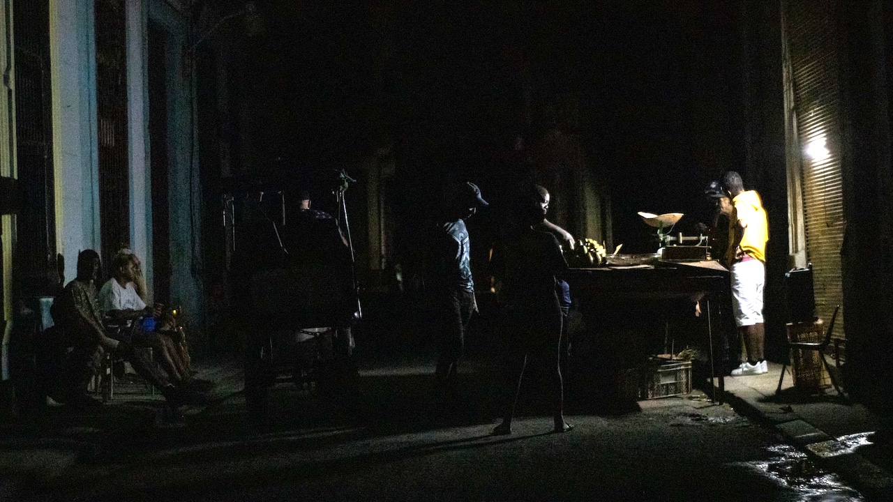
<path id="1" fill-rule="evenodd" d="M 719 394 L 712 399 L 722 403 L 725 392 L 724 372 L 716 373 L 714 364 L 714 331 L 718 301 L 730 295 L 729 271 L 715 261 L 664 262 L 631 266 L 605 266 L 597 268 L 572 268 L 565 277 L 574 297 L 581 304 L 610 298 L 614 302 L 626 300 L 674 300 L 690 298 L 700 302 L 702 314 L 706 314 L 707 342 L 710 352 L 710 379 L 719 377 Z"/>

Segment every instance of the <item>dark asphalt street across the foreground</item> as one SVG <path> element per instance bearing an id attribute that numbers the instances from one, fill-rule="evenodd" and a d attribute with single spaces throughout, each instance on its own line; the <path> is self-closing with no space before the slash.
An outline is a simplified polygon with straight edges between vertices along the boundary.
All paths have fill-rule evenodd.
<path id="1" fill-rule="evenodd" d="M 567 434 L 549 433 L 530 393 L 513 435 L 491 437 L 488 374 L 467 368 L 443 403 L 428 394 L 430 370 L 366 369 L 347 412 L 281 386 L 261 427 L 246 423 L 241 394 L 179 426 L 139 406 L 118 406 L 112 429 L 90 429 L 80 415 L 77 455 L 45 456 L 57 464 L 19 475 L 4 499 L 860 499 L 772 430 L 699 391 L 622 407 L 577 393 Z"/>

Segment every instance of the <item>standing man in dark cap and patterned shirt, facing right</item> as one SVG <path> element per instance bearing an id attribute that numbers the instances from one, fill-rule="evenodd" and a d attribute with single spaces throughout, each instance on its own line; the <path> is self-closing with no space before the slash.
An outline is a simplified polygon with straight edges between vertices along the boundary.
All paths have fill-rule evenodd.
<path id="1" fill-rule="evenodd" d="M 435 371 L 438 394 L 453 382 L 462 356 L 465 331 L 472 314 L 478 310 L 472 280 L 471 241 L 465 220 L 487 206 L 487 201 L 480 196 L 480 189 L 472 182 L 448 188 L 427 247 L 425 289 L 438 341 Z"/>

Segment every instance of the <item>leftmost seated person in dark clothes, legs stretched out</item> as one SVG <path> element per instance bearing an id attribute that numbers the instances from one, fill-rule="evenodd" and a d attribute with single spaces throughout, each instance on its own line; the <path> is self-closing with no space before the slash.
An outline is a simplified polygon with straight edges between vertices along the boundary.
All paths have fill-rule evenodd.
<path id="1" fill-rule="evenodd" d="M 103 314 L 96 298 L 96 278 L 100 269 L 99 255 L 92 249 L 78 255 L 78 277 L 71 280 L 59 298 L 61 324 L 66 345 L 72 348 L 63 369 L 63 381 L 67 389 L 63 400 L 70 404 L 87 401 L 87 384 L 96 357 L 103 351 L 121 354 L 134 370 L 146 381 L 160 389 L 171 406 L 183 403 L 183 393 L 163 377 L 150 364 L 141 351 L 134 350 L 127 341 L 108 336 L 103 324 Z"/>

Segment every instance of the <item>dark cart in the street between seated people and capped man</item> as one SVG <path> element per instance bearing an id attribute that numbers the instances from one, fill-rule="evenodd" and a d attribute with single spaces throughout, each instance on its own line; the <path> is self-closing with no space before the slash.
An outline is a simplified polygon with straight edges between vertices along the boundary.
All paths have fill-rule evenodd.
<path id="1" fill-rule="evenodd" d="M 230 305 L 245 334 L 252 421 L 265 418 L 270 389 L 278 383 L 330 395 L 353 391 L 351 329 L 362 314 L 344 189 L 346 184 L 333 191 L 338 216 L 317 212 L 304 224 L 300 217 L 306 214 L 288 205 L 298 201 L 286 188 L 223 196 Z"/>

